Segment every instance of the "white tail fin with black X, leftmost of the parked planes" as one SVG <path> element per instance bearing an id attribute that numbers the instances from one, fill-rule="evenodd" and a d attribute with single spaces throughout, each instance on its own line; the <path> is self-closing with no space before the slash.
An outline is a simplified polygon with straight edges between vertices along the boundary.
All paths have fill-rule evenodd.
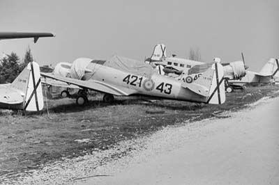
<path id="1" fill-rule="evenodd" d="M 43 109 L 43 90 L 38 63 L 29 63 L 11 86 L 24 93 L 24 110 L 40 111 Z"/>

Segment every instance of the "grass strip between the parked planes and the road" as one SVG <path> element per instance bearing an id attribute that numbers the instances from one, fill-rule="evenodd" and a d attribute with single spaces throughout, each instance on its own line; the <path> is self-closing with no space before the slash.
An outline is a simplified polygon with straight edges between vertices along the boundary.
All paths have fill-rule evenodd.
<path id="1" fill-rule="evenodd" d="M 152 134 L 167 125 L 240 111 L 262 97 L 278 96 L 278 90 L 278 86 L 246 88 L 227 94 L 223 105 L 172 100 L 151 103 L 122 97 L 107 104 L 96 95 L 83 107 L 77 106 L 75 99 L 48 100 L 50 117 L 46 110 L 27 115 L 3 110 L 0 177 L 13 178 L 20 172 L 43 168 L 45 163 L 107 150 L 121 140 Z"/>

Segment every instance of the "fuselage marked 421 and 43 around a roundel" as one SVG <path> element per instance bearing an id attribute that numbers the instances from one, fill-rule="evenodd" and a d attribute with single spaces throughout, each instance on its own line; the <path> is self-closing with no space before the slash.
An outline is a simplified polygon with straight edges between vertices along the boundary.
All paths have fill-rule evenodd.
<path id="1" fill-rule="evenodd" d="M 111 84 L 119 90 L 119 95 L 146 95 L 188 102 L 207 101 L 206 97 L 183 88 L 181 81 L 164 77 L 156 72 L 149 77 L 147 74 L 137 75 L 96 63 L 90 68 L 92 72 L 86 72 L 84 76 L 88 83 L 98 81 L 98 83 Z"/>

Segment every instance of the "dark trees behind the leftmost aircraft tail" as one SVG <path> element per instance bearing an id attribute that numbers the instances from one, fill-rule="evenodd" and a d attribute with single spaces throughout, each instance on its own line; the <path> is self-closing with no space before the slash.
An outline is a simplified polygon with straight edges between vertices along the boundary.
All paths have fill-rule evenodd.
<path id="1" fill-rule="evenodd" d="M 0 60 L 0 83 L 12 83 L 31 61 L 33 61 L 33 56 L 30 47 L 27 48 L 22 60 L 15 52 L 10 55 L 6 54 Z"/>

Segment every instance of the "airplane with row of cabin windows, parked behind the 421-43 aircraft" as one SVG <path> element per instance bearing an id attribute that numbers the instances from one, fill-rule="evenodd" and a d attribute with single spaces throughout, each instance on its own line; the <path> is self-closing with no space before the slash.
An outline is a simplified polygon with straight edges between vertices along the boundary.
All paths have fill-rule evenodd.
<path id="1" fill-rule="evenodd" d="M 220 63 L 220 58 L 214 58 L 214 62 Z M 197 80 L 212 65 L 212 63 L 191 61 L 176 56 L 167 57 L 166 47 L 163 44 L 154 47 L 153 54 L 146 59 L 146 63 L 155 65 L 159 74 L 166 74 L 186 83 Z M 243 61 L 221 63 L 221 65 L 223 65 L 226 83 L 228 79 L 241 79 L 246 74 L 247 67 Z"/>

